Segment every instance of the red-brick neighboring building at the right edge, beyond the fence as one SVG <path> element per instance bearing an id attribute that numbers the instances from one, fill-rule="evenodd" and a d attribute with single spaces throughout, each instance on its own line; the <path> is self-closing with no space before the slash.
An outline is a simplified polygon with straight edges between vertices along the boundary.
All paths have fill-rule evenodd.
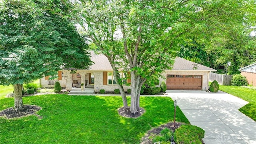
<path id="1" fill-rule="evenodd" d="M 242 76 L 246 76 L 249 84 L 256 86 L 256 63 L 238 69 Z"/>

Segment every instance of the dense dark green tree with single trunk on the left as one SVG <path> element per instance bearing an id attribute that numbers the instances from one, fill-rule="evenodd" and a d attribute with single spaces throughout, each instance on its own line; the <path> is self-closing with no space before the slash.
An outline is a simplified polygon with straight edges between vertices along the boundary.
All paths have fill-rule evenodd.
<path id="1" fill-rule="evenodd" d="M 90 66 L 84 38 L 62 18 L 67 10 L 59 1 L 0 3 L 0 84 L 14 85 L 15 109 L 23 108 L 24 82 L 55 76 L 62 68 Z"/>

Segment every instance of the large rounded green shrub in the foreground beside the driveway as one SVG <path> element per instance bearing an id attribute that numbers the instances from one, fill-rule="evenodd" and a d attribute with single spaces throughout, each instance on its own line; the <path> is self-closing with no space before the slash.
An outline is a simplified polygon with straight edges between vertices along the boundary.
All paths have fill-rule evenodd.
<path id="1" fill-rule="evenodd" d="M 176 144 L 202 144 L 203 138 L 204 130 L 192 125 L 182 125 L 174 133 Z"/>

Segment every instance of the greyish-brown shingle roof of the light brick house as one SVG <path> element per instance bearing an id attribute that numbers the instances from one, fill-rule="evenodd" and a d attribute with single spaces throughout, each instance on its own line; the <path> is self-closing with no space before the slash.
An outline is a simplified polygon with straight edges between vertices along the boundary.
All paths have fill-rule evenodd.
<path id="1" fill-rule="evenodd" d="M 94 64 L 90 66 L 90 70 L 113 70 L 106 56 L 103 54 L 94 54 L 93 51 L 90 51 L 90 53 L 91 60 L 94 62 Z M 194 64 L 197 63 L 176 57 L 172 70 L 193 70 Z M 197 66 L 197 70 L 216 71 L 213 68 L 201 64 L 197 64 Z"/>

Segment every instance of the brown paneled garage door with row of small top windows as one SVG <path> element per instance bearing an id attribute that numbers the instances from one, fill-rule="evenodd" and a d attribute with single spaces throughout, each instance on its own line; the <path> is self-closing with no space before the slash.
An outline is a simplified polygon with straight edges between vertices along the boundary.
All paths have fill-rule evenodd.
<path id="1" fill-rule="evenodd" d="M 168 90 L 201 90 L 202 75 L 167 75 Z"/>

